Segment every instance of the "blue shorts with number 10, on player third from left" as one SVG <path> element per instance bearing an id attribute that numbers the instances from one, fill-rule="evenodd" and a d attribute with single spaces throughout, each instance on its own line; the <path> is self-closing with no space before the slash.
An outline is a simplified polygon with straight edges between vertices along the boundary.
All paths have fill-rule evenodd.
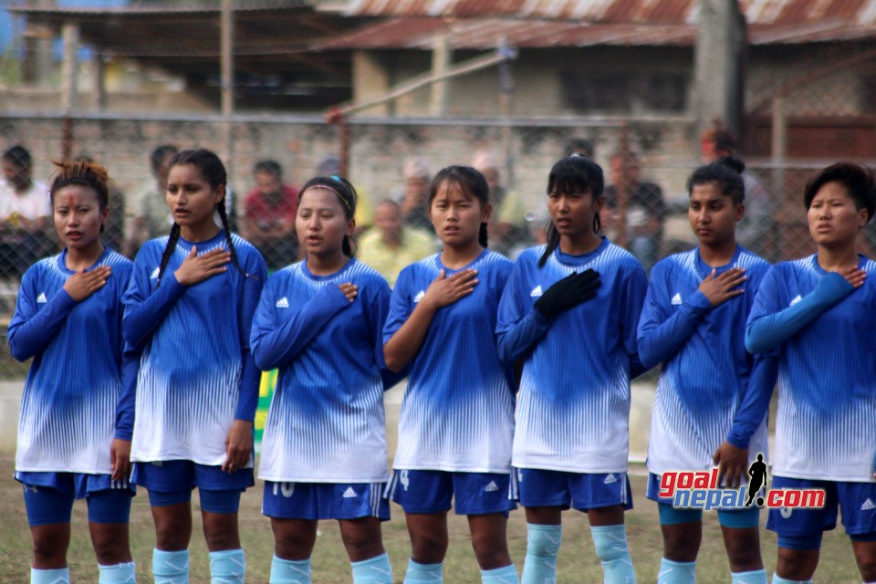
<path id="1" fill-rule="evenodd" d="M 275 483 L 265 481 L 262 514 L 277 519 L 390 520 L 386 483 Z"/>

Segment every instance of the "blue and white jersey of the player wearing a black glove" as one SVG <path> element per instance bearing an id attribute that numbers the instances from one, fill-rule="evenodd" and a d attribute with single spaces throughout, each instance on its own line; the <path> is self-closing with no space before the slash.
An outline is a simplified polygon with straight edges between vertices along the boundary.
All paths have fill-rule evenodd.
<path id="1" fill-rule="evenodd" d="M 630 252 L 603 238 L 585 255 L 545 245 L 517 259 L 499 305 L 499 354 L 523 360 L 512 464 L 573 473 L 622 473 L 630 443 L 630 380 L 641 374 L 636 328 L 645 272 Z M 544 318 L 542 293 L 573 272 L 600 273 L 597 296 Z"/>

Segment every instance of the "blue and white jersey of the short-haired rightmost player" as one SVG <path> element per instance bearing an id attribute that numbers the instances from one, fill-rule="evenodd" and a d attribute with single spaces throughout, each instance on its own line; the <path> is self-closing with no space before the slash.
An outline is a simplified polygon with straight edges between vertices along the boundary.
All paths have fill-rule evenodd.
<path id="1" fill-rule="evenodd" d="M 779 347 L 774 475 L 873 481 L 876 262 L 861 257 L 859 267 L 868 274 L 863 286 Z M 773 266 L 749 324 L 797 304 L 825 276 L 817 255 Z"/>

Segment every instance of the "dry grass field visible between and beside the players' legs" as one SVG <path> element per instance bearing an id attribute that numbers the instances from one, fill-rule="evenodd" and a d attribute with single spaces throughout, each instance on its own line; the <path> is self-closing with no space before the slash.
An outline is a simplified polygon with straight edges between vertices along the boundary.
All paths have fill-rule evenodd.
<path id="1" fill-rule="evenodd" d="M 22 502 L 21 488 L 11 478 L 14 456 L 0 453 L 0 583 L 26 584 L 29 581 L 31 559 L 30 535 Z M 631 469 L 636 470 L 636 469 Z M 641 470 L 641 469 L 638 469 Z M 654 582 L 661 556 L 660 527 L 655 506 L 644 499 L 644 477 L 631 476 L 636 508 L 627 514 L 627 531 L 636 574 L 640 582 Z M 261 515 L 261 488 L 256 485 L 247 491 L 241 503 L 240 525 L 246 550 L 247 581 L 267 582 L 273 553 L 270 524 Z M 193 507 L 197 511 L 197 497 Z M 71 576 L 74 582 L 97 582 L 98 569 L 88 538 L 85 504 L 74 507 L 73 543 L 69 553 Z M 563 545 L 558 560 L 558 583 L 571 584 L 602 581 L 600 562 L 593 551 L 586 516 L 570 511 L 563 516 Z M 714 513 L 706 513 L 704 542 L 698 562 L 698 581 L 701 584 L 730 581 L 719 527 Z M 451 516 L 451 545 L 444 563 L 444 581 L 448 583 L 479 582 L 474 554 L 470 546 L 468 527 L 464 517 Z M 323 522 L 321 535 L 313 557 L 313 581 L 332 584 L 350 582 L 349 561 L 340 543 L 337 523 Z M 137 562 L 137 577 L 151 582 L 151 549 L 154 545 L 149 505 L 145 493 L 134 499 L 131 511 L 131 546 Z M 404 579 L 404 569 L 410 553 L 404 516 L 401 508 L 392 506 L 392 520 L 384 524 L 383 539 L 390 554 L 396 582 Z M 526 556 L 527 533 L 523 511 L 511 514 L 508 527 L 511 555 L 518 570 L 523 568 Z M 776 563 L 776 537 L 763 531 L 762 548 L 767 571 Z M 209 583 L 207 551 L 203 544 L 200 524 L 195 523 L 191 546 L 193 584 Z M 821 554 L 821 565 L 816 574 L 819 582 L 860 582 L 855 568 L 849 540 L 842 530 L 826 534 Z"/>

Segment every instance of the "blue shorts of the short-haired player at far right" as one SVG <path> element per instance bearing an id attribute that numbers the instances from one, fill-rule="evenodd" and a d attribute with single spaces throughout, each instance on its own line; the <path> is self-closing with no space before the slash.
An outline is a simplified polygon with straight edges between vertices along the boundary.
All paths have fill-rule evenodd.
<path id="1" fill-rule="evenodd" d="M 822 508 L 773 508 L 767 515 L 767 529 L 782 537 L 820 536 L 837 527 L 838 510 L 842 511 L 842 526 L 852 539 L 871 541 L 876 534 L 876 483 L 818 481 L 814 479 L 773 476 L 771 491 L 779 489 L 824 489 Z M 815 546 L 819 538 L 810 540 Z M 781 544 L 781 541 L 779 542 Z M 781 547 L 781 545 L 780 545 Z M 793 547 L 793 546 L 791 546 Z M 818 547 L 803 547 L 818 548 Z"/>

